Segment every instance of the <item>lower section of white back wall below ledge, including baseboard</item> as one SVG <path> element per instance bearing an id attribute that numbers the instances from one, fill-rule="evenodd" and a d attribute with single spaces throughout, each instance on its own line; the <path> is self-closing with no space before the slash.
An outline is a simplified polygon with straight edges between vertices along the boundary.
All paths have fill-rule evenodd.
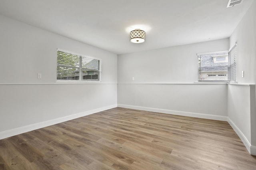
<path id="1" fill-rule="evenodd" d="M 226 92 L 225 84 L 118 84 L 118 106 L 226 121 Z"/>

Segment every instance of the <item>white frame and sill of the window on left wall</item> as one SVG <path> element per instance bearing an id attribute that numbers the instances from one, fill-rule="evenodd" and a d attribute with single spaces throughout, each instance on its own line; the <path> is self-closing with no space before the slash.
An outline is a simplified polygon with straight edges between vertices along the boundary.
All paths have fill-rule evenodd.
<path id="1" fill-rule="evenodd" d="M 89 58 L 89 59 L 96 59 L 99 61 L 99 79 L 98 80 L 83 80 L 82 79 L 82 67 L 78 67 L 79 68 L 79 80 L 66 80 L 66 79 L 63 79 L 63 80 L 60 80 L 60 79 L 57 79 L 57 70 L 56 70 L 56 83 L 101 83 L 101 74 L 102 74 L 102 59 L 99 59 L 99 58 L 96 58 L 96 57 L 89 57 L 88 55 L 82 55 L 82 54 L 78 54 L 78 53 L 75 53 L 75 52 L 72 52 L 72 51 L 68 51 L 68 50 L 64 50 L 64 49 L 57 49 L 56 51 L 56 69 L 57 69 L 57 66 L 58 66 L 58 62 L 57 62 L 57 52 L 58 51 L 62 51 L 62 52 L 65 52 L 65 53 L 70 53 L 70 54 L 73 54 L 73 55 L 79 55 L 80 57 L 86 57 L 86 58 Z"/>

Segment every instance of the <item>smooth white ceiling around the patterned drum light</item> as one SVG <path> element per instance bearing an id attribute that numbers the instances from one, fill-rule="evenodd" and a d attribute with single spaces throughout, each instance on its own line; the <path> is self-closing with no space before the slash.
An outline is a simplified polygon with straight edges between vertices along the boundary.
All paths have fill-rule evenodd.
<path id="1" fill-rule="evenodd" d="M 0 14 L 116 54 L 228 38 L 253 0 L 0 0 Z M 146 31 L 131 43 L 129 32 Z"/>

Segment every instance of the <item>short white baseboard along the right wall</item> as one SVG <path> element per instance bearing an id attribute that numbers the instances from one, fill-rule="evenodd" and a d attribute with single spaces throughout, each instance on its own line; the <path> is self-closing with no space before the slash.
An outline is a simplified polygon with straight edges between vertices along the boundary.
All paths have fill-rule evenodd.
<path id="1" fill-rule="evenodd" d="M 246 147 L 246 149 L 248 150 L 248 152 L 252 155 L 256 155 L 256 146 L 252 146 L 250 144 L 250 142 L 248 141 L 248 139 L 246 138 L 246 136 L 244 136 L 244 134 L 241 132 L 241 130 L 234 124 L 233 121 L 231 121 L 231 119 L 228 118 L 228 123 L 230 124 L 230 126 L 235 130 L 236 134 L 239 136 L 239 138 L 242 140 L 242 142 L 244 143 L 244 146 Z"/>

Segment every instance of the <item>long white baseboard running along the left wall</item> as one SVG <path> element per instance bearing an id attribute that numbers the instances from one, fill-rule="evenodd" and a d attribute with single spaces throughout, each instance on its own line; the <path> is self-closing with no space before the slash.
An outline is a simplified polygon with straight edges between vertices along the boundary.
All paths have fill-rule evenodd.
<path id="1" fill-rule="evenodd" d="M 0 132 L 0 139 L 8 138 L 8 137 L 11 137 L 11 136 L 14 136 L 14 135 L 17 135 L 17 134 L 22 134 L 22 133 L 25 133 L 25 132 L 29 132 L 29 131 L 32 131 L 32 130 L 39 129 L 39 128 L 48 127 L 48 126 L 55 125 L 55 124 L 58 124 L 58 123 L 62 123 L 62 122 L 65 122 L 65 121 L 70 121 L 72 119 L 76 119 L 76 118 L 79 118 L 79 117 L 91 115 L 91 114 L 98 113 L 98 112 L 101 112 L 101 111 L 105 111 L 105 110 L 108 110 L 108 109 L 112 109 L 112 108 L 115 108 L 115 107 L 117 107 L 117 105 L 110 105 L 110 106 L 101 107 L 101 108 L 98 108 L 98 109 L 93 109 L 93 110 L 90 110 L 90 111 L 84 111 L 84 112 L 81 112 L 81 113 L 76 113 L 76 114 L 73 114 L 73 115 L 60 117 L 60 118 L 57 118 L 57 119 L 52 119 L 52 120 L 49 120 L 49 121 L 39 122 L 39 123 L 35 123 L 35 124 L 32 124 L 32 125 L 24 126 L 24 127 L 19 127 L 19 128 L 14 128 L 14 129 L 2 131 L 2 132 Z"/>

